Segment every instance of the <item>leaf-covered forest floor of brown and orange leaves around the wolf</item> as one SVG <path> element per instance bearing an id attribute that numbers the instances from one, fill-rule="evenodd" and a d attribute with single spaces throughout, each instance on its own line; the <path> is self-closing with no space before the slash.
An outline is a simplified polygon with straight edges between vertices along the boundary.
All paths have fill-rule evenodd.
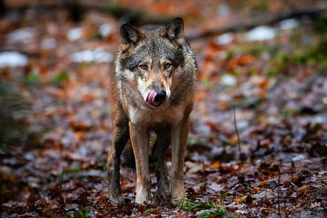
<path id="1" fill-rule="evenodd" d="M 137 205 L 135 174 L 123 168 L 128 204 L 109 205 L 106 178 L 119 28 L 148 24 L 133 13 L 151 11 L 158 22 L 181 15 L 193 37 L 324 1 L 146 1 L 132 9 L 121 1 L 103 10 L 25 2 L 0 17 L 2 217 L 327 216 L 325 16 L 190 40 L 201 87 L 185 156 L 188 200 Z"/>

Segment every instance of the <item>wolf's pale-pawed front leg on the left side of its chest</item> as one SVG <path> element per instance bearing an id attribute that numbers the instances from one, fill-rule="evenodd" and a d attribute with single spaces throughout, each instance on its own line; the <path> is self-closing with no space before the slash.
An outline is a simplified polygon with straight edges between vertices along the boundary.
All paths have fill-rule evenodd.
<path id="1" fill-rule="evenodd" d="M 149 142 L 147 128 L 129 123 L 129 131 L 136 164 L 136 203 L 151 200 L 151 179 L 149 175 Z"/>

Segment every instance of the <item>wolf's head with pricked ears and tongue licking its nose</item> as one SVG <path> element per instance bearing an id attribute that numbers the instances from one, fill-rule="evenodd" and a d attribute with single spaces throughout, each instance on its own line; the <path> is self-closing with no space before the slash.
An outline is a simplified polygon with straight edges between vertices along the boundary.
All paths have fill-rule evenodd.
<path id="1" fill-rule="evenodd" d="M 167 27 L 121 27 L 120 75 L 153 108 L 169 100 L 175 72 L 183 65 L 184 22 L 176 17 Z M 174 79 L 178 81 L 178 78 Z M 144 104 L 143 103 L 143 104 Z"/>

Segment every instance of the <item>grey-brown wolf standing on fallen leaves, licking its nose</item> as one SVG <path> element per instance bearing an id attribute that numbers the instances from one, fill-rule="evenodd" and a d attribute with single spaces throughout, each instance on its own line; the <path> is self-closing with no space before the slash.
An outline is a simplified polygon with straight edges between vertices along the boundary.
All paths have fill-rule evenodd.
<path id="1" fill-rule="evenodd" d="M 125 204 L 120 188 L 121 156 L 130 165 L 135 161 L 135 202 L 151 201 L 150 132 L 156 134 L 151 153 L 158 194 L 170 195 L 173 202 L 186 198 L 184 153 L 198 88 L 198 67 L 183 31 L 181 17 L 166 27 L 137 29 L 125 23 L 120 29 L 109 96 L 112 148 L 107 173 L 111 204 Z M 168 173 L 165 156 L 170 145 Z"/>

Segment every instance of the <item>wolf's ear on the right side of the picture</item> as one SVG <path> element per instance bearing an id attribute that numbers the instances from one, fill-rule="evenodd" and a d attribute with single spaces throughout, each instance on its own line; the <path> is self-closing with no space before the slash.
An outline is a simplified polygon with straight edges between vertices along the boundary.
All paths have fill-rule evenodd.
<path id="1" fill-rule="evenodd" d="M 176 17 L 162 32 L 162 36 L 167 37 L 171 41 L 176 40 L 178 44 L 183 45 L 183 32 L 184 21 L 181 17 Z"/>

